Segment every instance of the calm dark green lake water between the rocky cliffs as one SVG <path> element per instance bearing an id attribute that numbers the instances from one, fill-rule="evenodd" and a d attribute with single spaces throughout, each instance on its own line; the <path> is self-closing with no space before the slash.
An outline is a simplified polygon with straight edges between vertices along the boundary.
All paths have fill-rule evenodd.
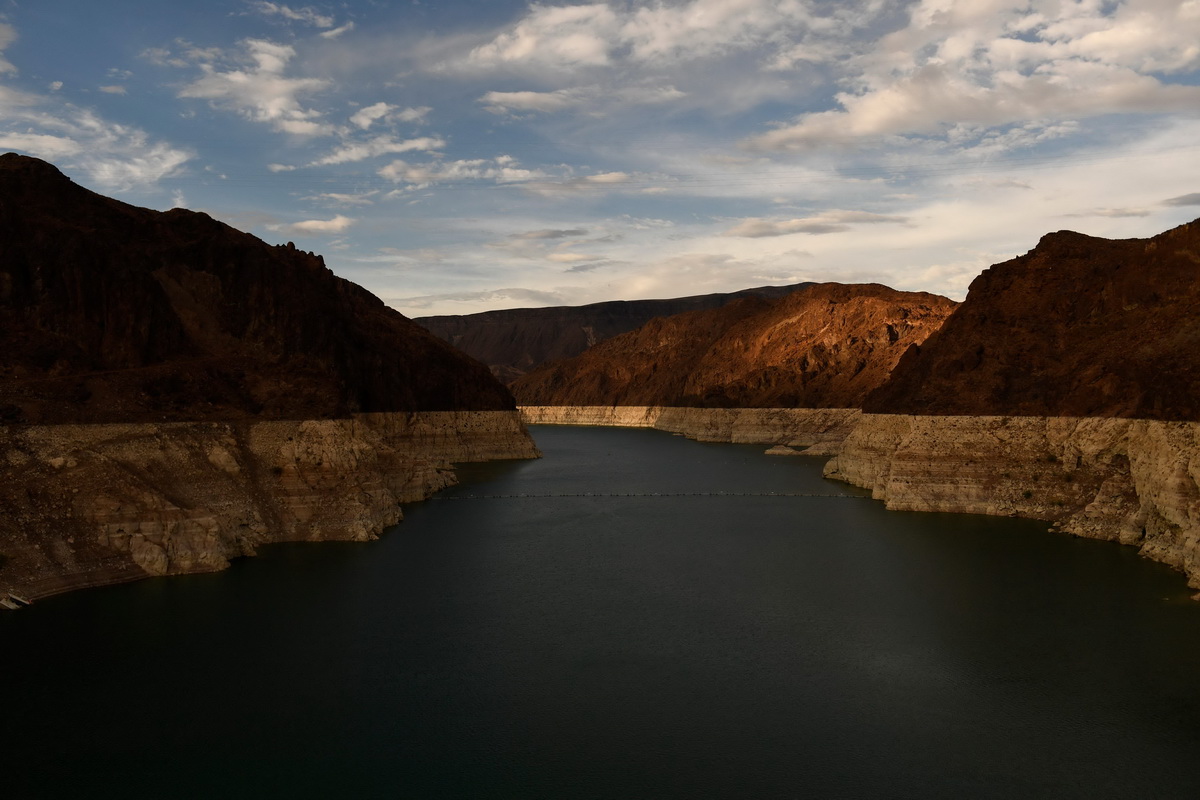
<path id="1" fill-rule="evenodd" d="M 534 434 L 378 542 L 0 615 L 0 795 L 1200 796 L 1178 575 L 762 447 Z M 844 497 L 464 497 L 721 491 Z"/>

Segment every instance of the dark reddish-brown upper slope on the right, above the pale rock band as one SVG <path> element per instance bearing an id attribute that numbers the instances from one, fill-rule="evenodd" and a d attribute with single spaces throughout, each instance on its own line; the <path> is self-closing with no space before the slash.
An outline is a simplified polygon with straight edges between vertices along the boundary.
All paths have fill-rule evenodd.
<path id="1" fill-rule="evenodd" d="M 868 411 L 1200 420 L 1200 221 L 1049 234 L 985 270 Z"/>

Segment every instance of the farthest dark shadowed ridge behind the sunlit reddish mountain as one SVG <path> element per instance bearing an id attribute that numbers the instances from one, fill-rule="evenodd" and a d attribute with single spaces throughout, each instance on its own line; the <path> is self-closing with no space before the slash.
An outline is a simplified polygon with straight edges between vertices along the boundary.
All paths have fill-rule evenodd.
<path id="1" fill-rule="evenodd" d="M 508 308 L 479 314 L 416 317 L 413 321 L 473 355 L 505 381 L 547 361 L 570 359 L 655 317 L 720 308 L 746 296 L 782 297 L 811 285 L 758 287 L 671 300 L 613 300 L 587 306 Z"/>

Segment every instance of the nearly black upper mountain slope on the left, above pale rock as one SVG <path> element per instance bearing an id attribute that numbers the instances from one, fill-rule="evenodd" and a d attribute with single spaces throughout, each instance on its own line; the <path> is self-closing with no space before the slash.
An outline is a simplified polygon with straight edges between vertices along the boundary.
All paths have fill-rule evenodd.
<path id="1" fill-rule="evenodd" d="M 140 209 L 0 156 L 0 421 L 506 409 L 476 361 L 204 213 Z"/>

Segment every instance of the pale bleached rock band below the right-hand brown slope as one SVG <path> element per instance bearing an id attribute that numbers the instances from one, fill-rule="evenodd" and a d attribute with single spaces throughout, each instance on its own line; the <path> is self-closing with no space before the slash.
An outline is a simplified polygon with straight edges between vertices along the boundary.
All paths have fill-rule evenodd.
<path id="1" fill-rule="evenodd" d="M 826 476 L 888 509 L 1030 517 L 1132 545 L 1200 589 L 1200 422 L 864 414 Z"/>

